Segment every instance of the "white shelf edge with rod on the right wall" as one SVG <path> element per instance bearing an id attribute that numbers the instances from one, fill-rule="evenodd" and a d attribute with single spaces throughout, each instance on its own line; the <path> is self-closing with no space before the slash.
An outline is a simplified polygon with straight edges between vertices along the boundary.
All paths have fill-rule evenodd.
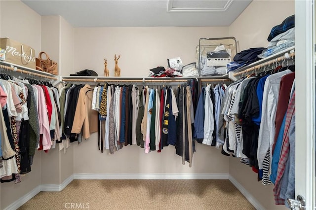
<path id="1" fill-rule="evenodd" d="M 294 59 L 294 56 L 295 56 L 295 46 L 292 46 L 276 54 L 273 54 L 264 59 L 256 61 L 248 66 L 242 67 L 239 70 L 230 71 L 228 72 L 228 74 L 225 74 L 225 75 L 227 75 L 228 78 L 230 78 L 231 80 L 237 81 L 238 78 L 236 76 L 242 75 L 243 73 L 249 72 L 251 70 L 260 69 L 261 67 L 265 67 L 266 65 L 271 65 L 276 62 Z"/>

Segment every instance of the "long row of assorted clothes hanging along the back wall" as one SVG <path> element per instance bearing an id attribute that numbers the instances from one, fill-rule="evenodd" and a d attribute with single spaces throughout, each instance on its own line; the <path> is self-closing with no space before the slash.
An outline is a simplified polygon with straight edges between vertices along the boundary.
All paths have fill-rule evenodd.
<path id="1" fill-rule="evenodd" d="M 155 150 L 161 152 L 164 146 L 170 144 L 175 146 L 176 154 L 182 157 L 182 163 L 185 164 L 188 161 L 189 167 L 192 167 L 197 137 L 196 130 L 199 129 L 195 125 L 195 121 L 198 119 L 195 118 L 195 109 L 197 113 L 200 113 L 198 114 L 198 116 L 201 116 L 199 118 L 203 120 L 201 139 L 207 139 L 208 145 L 215 146 L 217 139 L 219 139 L 217 130 L 220 127 L 217 121 L 220 119 L 219 113 L 225 89 L 224 85 L 217 85 L 216 88 L 208 85 L 207 91 L 203 88 L 202 94 L 197 96 L 197 93 L 200 93 L 197 86 L 196 80 L 188 80 L 188 84 L 181 87 L 179 85 L 176 94 L 173 88 L 169 86 L 160 89 L 145 86 L 141 91 L 135 85 L 106 84 L 104 87 L 107 88 L 102 85 L 94 88 L 89 86 L 88 89 L 92 93 L 89 109 L 99 112 L 98 131 L 99 136 L 101 136 L 98 141 L 99 149 L 101 152 L 103 151 L 104 143 L 104 148 L 109 150 L 109 154 L 114 154 L 115 151 L 122 149 L 124 146 L 137 144 L 144 148 L 145 153 L 149 153 Z M 72 101 L 76 101 L 76 91 L 79 90 L 79 99 L 77 100 L 79 103 L 81 92 L 85 92 L 85 88 L 88 86 L 68 87 L 65 101 L 69 100 L 70 104 L 65 106 L 66 115 L 68 113 L 73 114 L 71 107 L 73 106 Z M 75 93 L 75 96 L 71 97 L 70 95 L 73 93 Z M 67 94 L 69 99 L 67 99 Z M 103 96 L 106 96 L 106 100 Z M 197 99 L 199 99 L 199 105 Z M 205 111 L 205 105 L 207 112 Z M 198 106 L 201 106 L 202 109 Z M 85 113 L 79 114 L 79 104 L 75 110 L 76 122 L 71 125 L 71 134 L 80 134 L 81 126 L 77 128 L 76 123 L 81 123 L 81 120 L 77 119 L 76 116 L 84 118 L 86 115 Z M 105 112 L 107 115 L 105 115 Z M 65 110 L 63 113 L 65 113 Z M 66 116 L 66 118 L 69 118 L 69 116 Z M 101 122 L 104 119 L 104 123 Z M 204 123 L 205 119 L 207 119 L 208 124 Z M 204 135 L 206 128 L 209 129 L 208 134 Z M 82 133 L 82 135 L 85 138 L 85 134 Z"/>

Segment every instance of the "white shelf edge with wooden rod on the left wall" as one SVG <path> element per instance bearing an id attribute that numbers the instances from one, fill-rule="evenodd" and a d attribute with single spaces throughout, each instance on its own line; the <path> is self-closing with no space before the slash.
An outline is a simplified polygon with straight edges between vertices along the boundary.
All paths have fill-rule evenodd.
<path id="1" fill-rule="evenodd" d="M 4 70 L 17 71 L 23 74 L 30 74 L 31 76 L 39 76 L 39 77 L 43 77 L 47 79 L 58 80 L 58 78 L 54 74 L 47 73 L 40 70 L 31 69 L 28 67 L 23 67 L 23 66 L 12 64 L 5 61 L 0 61 L 0 67 L 1 69 L 4 69 Z"/>

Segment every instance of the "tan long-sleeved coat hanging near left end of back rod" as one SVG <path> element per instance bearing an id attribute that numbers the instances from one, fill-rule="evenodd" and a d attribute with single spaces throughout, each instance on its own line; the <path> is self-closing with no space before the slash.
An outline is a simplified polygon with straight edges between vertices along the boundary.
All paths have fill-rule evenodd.
<path id="1" fill-rule="evenodd" d="M 90 85 L 84 85 L 80 89 L 78 103 L 71 133 L 80 134 L 88 139 L 90 134 L 98 131 L 98 112 L 92 109 L 93 89 Z"/>

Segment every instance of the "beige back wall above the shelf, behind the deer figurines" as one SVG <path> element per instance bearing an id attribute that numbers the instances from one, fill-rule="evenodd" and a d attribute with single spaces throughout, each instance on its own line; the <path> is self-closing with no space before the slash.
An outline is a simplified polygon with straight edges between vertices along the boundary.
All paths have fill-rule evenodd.
<path id="1" fill-rule="evenodd" d="M 167 67 L 168 58 L 195 62 L 200 37 L 227 35 L 228 27 L 75 28 L 75 69 L 62 75 L 90 69 L 103 76 L 107 58 L 110 76 L 114 76 L 114 55 L 121 54 L 121 76 L 148 76 L 149 69 Z"/>

